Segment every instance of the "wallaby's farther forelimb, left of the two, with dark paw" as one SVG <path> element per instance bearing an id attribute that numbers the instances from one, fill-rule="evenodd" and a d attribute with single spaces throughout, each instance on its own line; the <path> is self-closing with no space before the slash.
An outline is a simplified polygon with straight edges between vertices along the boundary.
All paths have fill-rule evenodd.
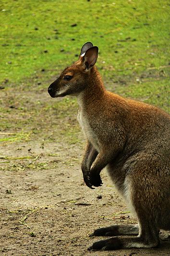
<path id="1" fill-rule="evenodd" d="M 82 161 L 82 172 L 83 172 L 85 184 L 89 188 L 92 188 L 92 184 L 90 183 L 90 168 L 92 163 L 96 159 L 97 154 L 98 154 L 97 150 L 92 146 L 92 144 L 89 141 L 87 141 L 85 155 Z"/>

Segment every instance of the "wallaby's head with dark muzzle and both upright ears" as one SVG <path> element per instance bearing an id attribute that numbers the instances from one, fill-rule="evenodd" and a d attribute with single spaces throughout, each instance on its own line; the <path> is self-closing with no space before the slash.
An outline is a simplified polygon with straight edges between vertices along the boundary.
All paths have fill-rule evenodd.
<path id="1" fill-rule="evenodd" d="M 52 98 L 66 95 L 78 95 L 88 84 L 93 66 L 97 61 L 98 47 L 87 42 L 81 49 L 78 61 L 63 70 L 59 78 L 49 85 Z"/>

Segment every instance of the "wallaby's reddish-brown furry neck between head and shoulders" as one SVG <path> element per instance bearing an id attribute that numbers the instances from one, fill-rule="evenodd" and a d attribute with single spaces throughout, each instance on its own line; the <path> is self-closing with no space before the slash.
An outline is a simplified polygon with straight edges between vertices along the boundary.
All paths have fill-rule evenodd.
<path id="1" fill-rule="evenodd" d="M 92 68 L 86 84 L 85 90 L 77 96 L 80 107 L 103 97 L 106 91 L 101 75 L 95 66 Z"/>

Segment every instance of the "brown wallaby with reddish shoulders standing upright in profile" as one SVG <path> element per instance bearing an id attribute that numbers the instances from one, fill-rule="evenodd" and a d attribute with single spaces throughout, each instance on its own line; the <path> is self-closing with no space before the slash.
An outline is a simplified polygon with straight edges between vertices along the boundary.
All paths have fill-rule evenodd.
<path id="1" fill-rule="evenodd" d="M 159 229 L 170 230 L 170 117 L 154 106 L 107 91 L 94 66 L 97 56 L 97 46 L 85 43 L 78 61 L 48 92 L 52 98 L 77 97 L 78 121 L 87 138 L 85 184 L 91 189 L 101 186 L 100 171 L 107 166 L 139 224 L 95 230 L 92 236 L 132 236 L 101 240 L 88 250 L 156 247 Z"/>

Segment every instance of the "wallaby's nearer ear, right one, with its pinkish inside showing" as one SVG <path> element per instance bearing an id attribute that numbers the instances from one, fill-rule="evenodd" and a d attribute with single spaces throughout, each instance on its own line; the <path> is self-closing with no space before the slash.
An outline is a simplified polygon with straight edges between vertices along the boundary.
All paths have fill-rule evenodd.
<path id="1" fill-rule="evenodd" d="M 85 65 L 85 69 L 90 69 L 91 67 L 93 67 L 97 61 L 97 57 L 98 57 L 98 47 L 97 46 L 93 46 L 90 49 L 88 49 L 85 52 L 85 56 L 84 56 L 84 65 Z"/>

